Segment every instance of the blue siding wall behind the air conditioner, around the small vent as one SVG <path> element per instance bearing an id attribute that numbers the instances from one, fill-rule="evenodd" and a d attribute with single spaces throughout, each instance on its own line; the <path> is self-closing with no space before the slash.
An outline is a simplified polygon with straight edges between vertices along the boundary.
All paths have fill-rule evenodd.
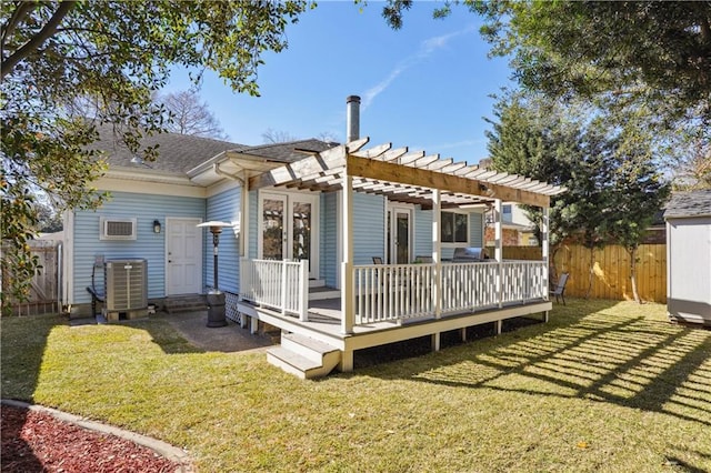
<path id="1" fill-rule="evenodd" d="M 204 199 L 111 192 L 111 200 L 97 211 L 74 213 L 74 288 L 72 302 L 89 303 L 86 288 L 91 285 L 91 270 L 97 255 L 104 259 L 130 258 L 148 261 L 148 296 L 166 294 L 166 217 L 204 219 Z M 136 218 L 137 239 L 130 241 L 99 240 L 101 217 Z M 160 221 L 163 231 L 153 233 L 153 221 Z M 103 279 L 99 279 L 103 281 Z"/>

